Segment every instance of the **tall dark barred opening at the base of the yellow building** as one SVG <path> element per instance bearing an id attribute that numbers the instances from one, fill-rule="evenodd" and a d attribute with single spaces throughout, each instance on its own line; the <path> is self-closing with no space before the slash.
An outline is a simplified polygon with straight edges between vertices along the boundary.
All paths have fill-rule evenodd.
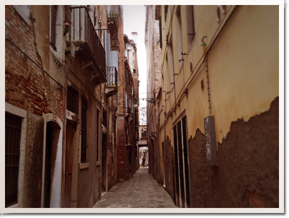
<path id="1" fill-rule="evenodd" d="M 190 206 L 190 182 L 187 151 L 186 116 L 174 127 L 174 152 L 177 194 Z"/>

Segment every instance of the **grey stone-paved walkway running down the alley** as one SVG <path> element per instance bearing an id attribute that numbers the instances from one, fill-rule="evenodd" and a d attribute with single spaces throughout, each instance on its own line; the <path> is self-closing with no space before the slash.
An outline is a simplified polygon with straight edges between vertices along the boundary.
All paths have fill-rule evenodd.
<path id="1" fill-rule="evenodd" d="M 117 183 L 93 208 L 176 208 L 173 199 L 158 184 L 148 168 L 139 168 L 133 177 Z"/>

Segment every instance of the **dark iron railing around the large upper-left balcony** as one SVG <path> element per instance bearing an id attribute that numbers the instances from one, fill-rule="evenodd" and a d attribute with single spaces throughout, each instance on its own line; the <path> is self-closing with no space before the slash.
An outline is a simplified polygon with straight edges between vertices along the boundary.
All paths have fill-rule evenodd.
<path id="1" fill-rule="evenodd" d="M 93 78 L 106 82 L 106 53 L 95 31 L 87 7 L 70 7 L 70 10 L 74 26 L 71 31 L 71 41 L 75 46 L 79 46 L 80 50 L 84 49 L 89 59 L 100 71 L 101 75 L 95 75 Z"/>

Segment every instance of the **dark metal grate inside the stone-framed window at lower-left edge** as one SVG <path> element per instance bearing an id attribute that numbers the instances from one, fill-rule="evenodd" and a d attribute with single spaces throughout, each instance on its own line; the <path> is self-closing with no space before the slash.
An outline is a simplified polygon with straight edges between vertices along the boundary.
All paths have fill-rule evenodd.
<path id="1" fill-rule="evenodd" d="M 5 113 L 5 207 L 17 203 L 21 117 Z"/>

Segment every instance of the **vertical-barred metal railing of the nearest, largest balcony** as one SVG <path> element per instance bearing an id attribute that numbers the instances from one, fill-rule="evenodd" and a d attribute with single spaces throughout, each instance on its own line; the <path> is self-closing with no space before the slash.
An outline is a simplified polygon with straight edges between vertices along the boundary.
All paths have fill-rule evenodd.
<path id="1" fill-rule="evenodd" d="M 95 27 L 93 22 L 89 16 L 89 12 L 87 7 L 79 6 L 79 7 L 71 7 L 71 16 L 72 21 L 74 23 L 74 31 L 75 33 L 72 34 L 72 41 L 79 40 L 85 42 L 88 47 L 90 48 L 91 52 L 93 53 L 96 61 L 98 62 L 99 66 L 105 73 L 105 50 L 97 36 L 95 31 Z M 79 24 L 79 27 L 78 25 Z"/>

